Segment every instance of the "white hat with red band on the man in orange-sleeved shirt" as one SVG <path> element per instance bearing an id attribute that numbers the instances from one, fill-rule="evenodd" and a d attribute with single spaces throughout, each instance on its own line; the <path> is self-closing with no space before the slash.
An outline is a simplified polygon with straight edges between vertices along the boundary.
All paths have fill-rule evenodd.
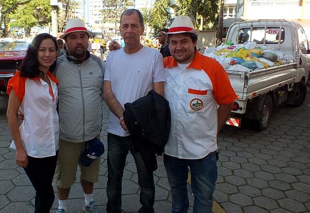
<path id="1" fill-rule="evenodd" d="M 194 33 L 198 35 L 199 29 L 194 29 L 193 22 L 189 16 L 175 16 L 168 33 L 165 34 L 176 33 Z"/>

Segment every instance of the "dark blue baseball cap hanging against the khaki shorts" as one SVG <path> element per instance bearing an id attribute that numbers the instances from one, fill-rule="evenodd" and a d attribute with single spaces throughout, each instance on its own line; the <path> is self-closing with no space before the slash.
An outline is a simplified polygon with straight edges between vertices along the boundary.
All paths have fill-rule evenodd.
<path id="1" fill-rule="evenodd" d="M 100 157 L 104 152 L 105 147 L 103 143 L 95 137 L 93 140 L 86 142 L 85 149 L 80 157 L 80 163 L 86 167 L 90 166 L 93 161 Z"/>

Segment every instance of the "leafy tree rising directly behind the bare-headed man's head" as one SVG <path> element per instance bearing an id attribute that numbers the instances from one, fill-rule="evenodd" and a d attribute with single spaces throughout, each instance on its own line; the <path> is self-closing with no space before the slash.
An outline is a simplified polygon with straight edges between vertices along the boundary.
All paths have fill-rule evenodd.
<path id="1" fill-rule="evenodd" d="M 134 3 L 131 0 L 104 0 L 103 9 L 100 11 L 103 23 L 114 23 L 116 33 L 117 23 L 120 23 L 122 13 L 132 6 Z"/>

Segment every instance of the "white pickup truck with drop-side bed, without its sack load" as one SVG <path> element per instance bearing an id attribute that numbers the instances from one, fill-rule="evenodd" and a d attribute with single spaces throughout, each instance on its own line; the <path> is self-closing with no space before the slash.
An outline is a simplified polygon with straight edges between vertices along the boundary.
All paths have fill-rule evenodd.
<path id="1" fill-rule="evenodd" d="M 297 107 L 304 102 L 310 81 L 310 43 L 301 25 L 286 20 L 235 22 L 226 41 L 234 44 L 255 41 L 257 46 L 273 47 L 284 55 L 292 55 L 286 65 L 251 72 L 226 70 L 238 96 L 226 124 L 240 127 L 241 118 L 248 118 L 256 130 L 263 131 L 274 106 L 285 103 Z"/>

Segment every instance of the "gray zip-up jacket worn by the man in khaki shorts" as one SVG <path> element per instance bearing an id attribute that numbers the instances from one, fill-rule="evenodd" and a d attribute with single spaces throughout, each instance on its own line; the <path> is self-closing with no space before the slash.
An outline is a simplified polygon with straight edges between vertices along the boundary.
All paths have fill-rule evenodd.
<path id="1" fill-rule="evenodd" d="M 60 139 L 84 142 L 100 134 L 104 71 L 105 63 L 89 52 L 82 64 L 66 54 L 57 58 Z"/>

